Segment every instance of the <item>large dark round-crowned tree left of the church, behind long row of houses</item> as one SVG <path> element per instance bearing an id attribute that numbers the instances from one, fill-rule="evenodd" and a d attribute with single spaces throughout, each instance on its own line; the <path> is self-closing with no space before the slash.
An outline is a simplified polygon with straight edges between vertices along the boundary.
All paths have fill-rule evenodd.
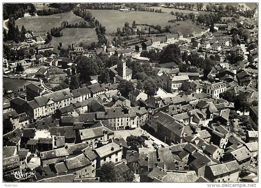
<path id="1" fill-rule="evenodd" d="M 77 73 L 80 74 L 80 80 L 83 80 L 84 83 L 91 80 L 90 76 L 97 75 L 98 65 L 93 58 L 88 58 L 86 56 L 81 56 L 76 60 L 77 64 Z"/>

